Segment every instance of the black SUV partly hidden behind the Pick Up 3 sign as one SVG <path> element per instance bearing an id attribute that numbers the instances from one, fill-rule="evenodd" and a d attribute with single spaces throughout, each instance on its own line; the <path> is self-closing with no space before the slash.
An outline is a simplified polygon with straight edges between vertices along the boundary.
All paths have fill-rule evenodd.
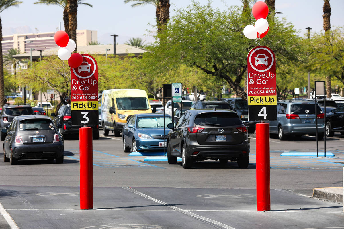
<path id="1" fill-rule="evenodd" d="M 78 135 L 79 128 L 83 127 L 81 125 L 72 126 L 71 104 L 63 104 L 58 110 L 57 115 L 55 115 L 55 113 L 52 113 L 51 116 L 54 117 L 53 122 L 55 126 L 61 125 L 60 127 L 58 127 L 58 131 L 60 131 L 60 133 L 63 135 Z M 88 125 L 88 127 L 92 127 L 92 138 L 99 139 L 99 126 Z"/>

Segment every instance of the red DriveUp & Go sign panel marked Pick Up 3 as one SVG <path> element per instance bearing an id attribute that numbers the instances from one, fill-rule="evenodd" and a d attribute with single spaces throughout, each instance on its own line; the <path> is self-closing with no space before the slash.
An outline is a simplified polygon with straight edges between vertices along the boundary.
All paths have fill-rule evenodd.
<path id="1" fill-rule="evenodd" d="M 88 54 L 71 68 L 72 125 L 98 125 L 98 64 Z"/>

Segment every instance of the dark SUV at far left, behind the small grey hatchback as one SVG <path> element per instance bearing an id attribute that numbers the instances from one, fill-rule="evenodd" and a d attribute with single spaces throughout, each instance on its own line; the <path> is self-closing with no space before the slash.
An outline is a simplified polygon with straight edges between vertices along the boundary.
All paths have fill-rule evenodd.
<path id="1" fill-rule="evenodd" d="M 6 104 L 2 107 L 0 116 L 0 129 L 6 128 L 6 126 L 10 125 L 12 122 L 12 119 L 15 116 L 18 115 L 32 115 L 33 110 L 32 107 L 29 104 L 23 104 L 23 105 L 11 105 Z M 1 133 L 0 139 L 3 141 L 5 139 L 5 133 Z"/>

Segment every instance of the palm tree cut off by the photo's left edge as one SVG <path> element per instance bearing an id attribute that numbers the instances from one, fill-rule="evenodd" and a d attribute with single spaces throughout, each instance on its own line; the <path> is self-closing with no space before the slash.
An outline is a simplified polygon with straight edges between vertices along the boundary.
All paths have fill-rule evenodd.
<path id="1" fill-rule="evenodd" d="M 0 14 L 2 11 L 8 9 L 9 7 L 18 5 L 20 1 L 17 0 L 0 0 Z M 2 24 L 1 24 L 1 18 L 0 18 L 0 42 L 2 41 Z M 3 59 L 2 59 L 2 46 L 0 45 L 0 106 L 2 107 L 5 102 L 5 93 L 4 93 L 4 83 L 3 83 Z"/>

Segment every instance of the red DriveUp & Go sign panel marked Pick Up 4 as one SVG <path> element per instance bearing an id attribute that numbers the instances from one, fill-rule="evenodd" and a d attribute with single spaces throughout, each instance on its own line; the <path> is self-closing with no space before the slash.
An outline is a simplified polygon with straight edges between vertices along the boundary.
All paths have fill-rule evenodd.
<path id="1" fill-rule="evenodd" d="M 266 46 L 247 55 L 248 120 L 277 120 L 276 58 Z"/>

